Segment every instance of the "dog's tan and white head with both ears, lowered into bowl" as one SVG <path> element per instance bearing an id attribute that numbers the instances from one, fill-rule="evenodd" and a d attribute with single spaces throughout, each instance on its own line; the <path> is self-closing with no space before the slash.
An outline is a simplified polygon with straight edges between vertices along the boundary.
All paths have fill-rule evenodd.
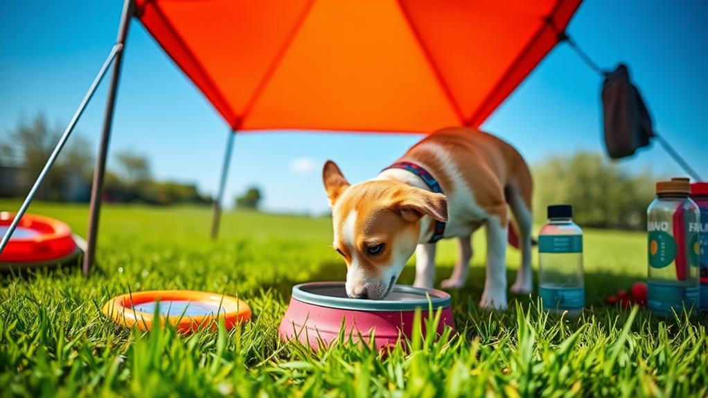
<path id="1" fill-rule="evenodd" d="M 331 160 L 322 179 L 332 207 L 333 246 L 347 263 L 347 295 L 384 298 L 416 250 L 421 218 L 447 221 L 445 195 L 392 180 L 349 185 Z"/>

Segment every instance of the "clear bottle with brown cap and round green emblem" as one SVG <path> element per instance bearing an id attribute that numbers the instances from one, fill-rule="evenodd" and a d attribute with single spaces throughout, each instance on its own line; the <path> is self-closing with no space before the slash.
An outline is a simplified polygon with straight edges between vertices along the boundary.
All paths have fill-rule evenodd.
<path id="1" fill-rule="evenodd" d="M 647 304 L 658 315 L 697 311 L 700 213 L 687 178 L 656 183 L 647 209 L 649 279 Z"/>

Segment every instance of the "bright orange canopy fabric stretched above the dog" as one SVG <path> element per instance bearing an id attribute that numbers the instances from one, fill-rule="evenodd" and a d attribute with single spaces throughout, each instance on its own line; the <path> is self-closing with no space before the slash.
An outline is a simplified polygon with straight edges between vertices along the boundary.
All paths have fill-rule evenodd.
<path id="1" fill-rule="evenodd" d="M 137 0 L 239 131 L 478 127 L 581 0 Z"/>

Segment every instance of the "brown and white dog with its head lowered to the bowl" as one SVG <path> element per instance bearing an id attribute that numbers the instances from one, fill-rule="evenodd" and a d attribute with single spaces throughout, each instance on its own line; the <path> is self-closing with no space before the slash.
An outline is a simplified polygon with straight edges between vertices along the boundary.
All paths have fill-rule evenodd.
<path id="1" fill-rule="evenodd" d="M 347 263 L 351 298 L 381 299 L 406 261 L 416 252 L 413 286 L 433 287 L 436 221 L 445 221 L 444 238 L 457 238 L 459 258 L 443 288 L 460 288 L 472 258 L 472 233 L 486 226 L 486 281 L 480 305 L 506 308 L 508 208 L 518 224 L 521 266 L 511 287 L 528 293 L 531 276 L 531 175 L 520 154 L 501 139 L 469 128 L 430 134 L 397 163 L 407 162 L 432 175 L 445 194 L 431 192 L 409 170 L 389 168 L 376 178 L 350 185 L 335 163 L 324 165 L 324 187 L 332 206 L 333 246 Z"/>

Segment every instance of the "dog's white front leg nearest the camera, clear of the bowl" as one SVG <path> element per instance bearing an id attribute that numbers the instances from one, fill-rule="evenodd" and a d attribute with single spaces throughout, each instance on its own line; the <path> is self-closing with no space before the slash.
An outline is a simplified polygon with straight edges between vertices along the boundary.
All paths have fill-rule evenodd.
<path id="1" fill-rule="evenodd" d="M 485 309 L 506 309 L 506 234 L 508 224 L 498 216 L 486 221 L 487 263 L 484 292 L 479 306 Z"/>

